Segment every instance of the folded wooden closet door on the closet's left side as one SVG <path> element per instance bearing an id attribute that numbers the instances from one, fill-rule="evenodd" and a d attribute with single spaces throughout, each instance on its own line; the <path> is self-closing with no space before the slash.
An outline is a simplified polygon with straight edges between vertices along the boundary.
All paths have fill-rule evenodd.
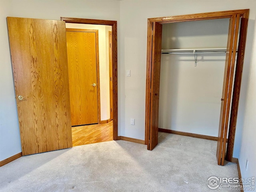
<path id="1" fill-rule="evenodd" d="M 151 94 L 150 94 L 150 132 L 148 149 L 153 150 L 158 144 L 158 112 L 160 63 L 162 47 L 162 24 L 153 23 L 152 34 L 152 66 L 151 66 Z"/>

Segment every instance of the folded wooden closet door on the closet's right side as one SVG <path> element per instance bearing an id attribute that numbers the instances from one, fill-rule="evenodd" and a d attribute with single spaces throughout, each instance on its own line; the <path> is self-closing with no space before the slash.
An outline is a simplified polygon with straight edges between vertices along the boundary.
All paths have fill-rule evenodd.
<path id="1" fill-rule="evenodd" d="M 224 70 L 224 80 L 223 80 L 221 109 L 220 109 L 220 124 L 219 124 L 218 144 L 217 144 L 217 152 L 216 152 L 218 165 L 224 165 L 224 159 L 225 159 L 231 93 L 232 93 L 232 86 L 233 86 L 235 61 L 236 61 L 236 47 L 237 47 L 238 32 L 239 32 L 238 31 L 239 18 L 240 18 L 240 15 L 233 15 L 230 18 L 229 29 L 228 29 L 228 44 L 227 44 L 226 62 L 225 62 L 225 70 Z"/>

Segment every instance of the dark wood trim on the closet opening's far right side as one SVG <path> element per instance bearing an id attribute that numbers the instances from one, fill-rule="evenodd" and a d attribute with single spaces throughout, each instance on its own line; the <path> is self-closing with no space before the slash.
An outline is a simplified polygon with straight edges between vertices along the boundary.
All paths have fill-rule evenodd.
<path id="1" fill-rule="evenodd" d="M 238 114 L 238 104 L 239 104 L 240 88 L 241 88 L 241 81 L 242 81 L 244 50 L 245 50 L 245 43 L 246 43 L 249 10 L 247 10 L 241 17 L 242 18 L 241 18 L 241 25 L 240 25 L 240 37 L 239 37 L 239 44 L 238 44 L 236 72 L 235 72 L 234 89 L 233 89 L 231 112 L 230 112 L 230 125 L 229 125 L 229 132 L 228 132 L 229 142 L 228 142 L 227 154 L 226 154 L 227 161 L 231 161 L 233 158 L 234 141 L 235 141 L 235 133 L 236 133 L 236 120 L 237 120 L 237 114 Z"/>

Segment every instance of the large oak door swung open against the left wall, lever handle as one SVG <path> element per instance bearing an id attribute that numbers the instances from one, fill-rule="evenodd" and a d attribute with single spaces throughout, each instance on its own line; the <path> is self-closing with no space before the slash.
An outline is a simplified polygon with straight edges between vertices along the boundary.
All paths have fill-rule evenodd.
<path id="1" fill-rule="evenodd" d="M 65 22 L 7 23 L 22 155 L 72 147 Z"/>

